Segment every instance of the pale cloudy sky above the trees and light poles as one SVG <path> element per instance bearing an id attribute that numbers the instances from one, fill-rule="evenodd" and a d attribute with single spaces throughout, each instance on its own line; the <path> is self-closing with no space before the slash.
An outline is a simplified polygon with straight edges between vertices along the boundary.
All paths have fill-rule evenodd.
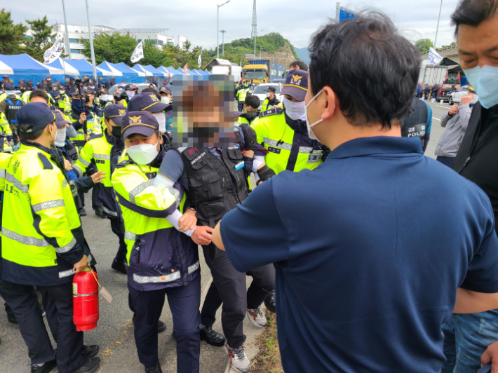
<path id="1" fill-rule="evenodd" d="M 193 46 L 214 48 L 216 46 L 217 4 L 226 0 L 182 0 L 182 1 L 137 1 L 137 0 L 88 0 L 92 25 L 106 25 L 120 28 L 168 28 L 168 35 L 186 36 Z M 455 41 L 450 27 L 450 15 L 457 6 L 457 0 L 441 0 L 436 46 Z M 278 32 L 296 48 L 309 44 L 311 35 L 321 25 L 335 18 L 336 1 L 325 0 L 257 0 L 257 29 L 261 35 Z M 441 2 L 438 0 L 377 0 L 342 1 L 353 11 L 375 8 L 389 15 L 403 35 L 412 42 L 431 39 L 436 36 L 436 25 Z M 86 25 L 85 1 L 65 0 L 67 22 Z M 47 15 L 51 24 L 64 22 L 62 0 L 23 0 L 4 4 L 12 12 L 15 22 L 25 22 Z M 220 28 L 227 30 L 225 42 L 248 38 L 253 22 L 253 0 L 230 0 L 220 7 Z M 222 36 L 220 34 L 220 43 Z"/>

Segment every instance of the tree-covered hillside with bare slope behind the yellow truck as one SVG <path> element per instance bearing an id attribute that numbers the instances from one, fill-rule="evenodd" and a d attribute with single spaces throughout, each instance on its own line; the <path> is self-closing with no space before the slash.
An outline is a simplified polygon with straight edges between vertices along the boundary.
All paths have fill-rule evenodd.
<path id="1" fill-rule="evenodd" d="M 295 52 L 294 46 L 285 39 L 281 34 L 271 32 L 263 36 L 257 36 L 256 40 L 256 57 L 269 58 L 277 63 L 283 63 L 286 67 L 293 60 L 297 60 L 298 56 Z M 216 50 L 207 50 L 205 55 L 209 57 L 216 57 Z M 237 39 L 224 44 L 224 58 L 236 63 L 241 62 L 241 59 L 246 54 L 254 53 L 254 39 L 245 38 Z M 222 57 L 222 45 L 220 44 L 220 58 Z M 242 60 L 244 63 L 244 60 Z"/>

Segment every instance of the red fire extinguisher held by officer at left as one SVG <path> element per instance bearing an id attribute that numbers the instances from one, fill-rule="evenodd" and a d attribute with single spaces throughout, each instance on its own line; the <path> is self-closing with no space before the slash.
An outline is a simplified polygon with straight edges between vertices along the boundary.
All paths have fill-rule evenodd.
<path id="1" fill-rule="evenodd" d="M 98 276 L 85 269 L 73 278 L 73 322 L 83 332 L 97 327 L 99 319 Z"/>

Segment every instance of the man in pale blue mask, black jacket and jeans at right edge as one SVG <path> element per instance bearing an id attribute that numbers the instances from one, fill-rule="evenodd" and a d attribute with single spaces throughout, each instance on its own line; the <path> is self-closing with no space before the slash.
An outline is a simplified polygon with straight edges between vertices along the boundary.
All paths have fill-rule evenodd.
<path id="1" fill-rule="evenodd" d="M 453 164 L 490 198 L 498 218 L 498 1 L 463 0 L 452 15 L 460 65 L 479 101 Z M 463 100 L 462 100 L 463 102 Z M 495 224 L 495 230 L 498 226 Z M 498 372 L 497 310 L 453 315 L 443 325 L 443 373 L 475 372 L 492 361 Z M 488 347 L 489 346 L 489 347 Z M 481 357 L 482 354 L 482 357 Z"/>

